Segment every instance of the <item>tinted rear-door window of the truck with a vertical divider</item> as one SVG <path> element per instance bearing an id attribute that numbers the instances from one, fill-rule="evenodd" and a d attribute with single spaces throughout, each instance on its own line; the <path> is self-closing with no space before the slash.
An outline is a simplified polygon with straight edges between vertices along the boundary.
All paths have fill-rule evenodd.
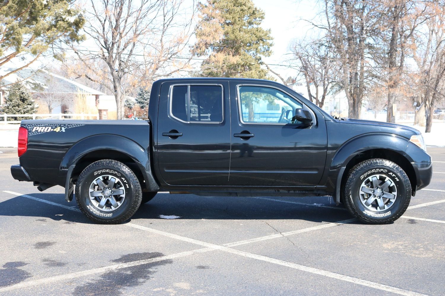
<path id="1" fill-rule="evenodd" d="M 170 116 L 182 122 L 223 122 L 221 85 L 174 85 L 170 93 Z"/>

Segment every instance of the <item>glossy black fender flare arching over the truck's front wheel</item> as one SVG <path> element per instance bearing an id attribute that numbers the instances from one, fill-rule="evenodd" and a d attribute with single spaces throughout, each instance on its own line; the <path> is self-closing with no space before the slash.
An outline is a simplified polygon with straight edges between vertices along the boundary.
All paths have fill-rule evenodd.
<path id="1" fill-rule="evenodd" d="M 412 159 L 405 154 L 408 144 L 409 140 L 401 136 L 385 133 L 364 134 L 352 138 L 344 143 L 332 158 L 328 174 L 328 179 L 332 180 L 330 184 L 335 184 L 334 192 L 336 203 L 340 203 L 341 180 L 343 178 L 346 165 L 350 160 L 352 160 L 352 158 L 368 150 L 386 149 L 396 152 L 401 156 L 406 157 L 409 162 L 412 162 Z"/>

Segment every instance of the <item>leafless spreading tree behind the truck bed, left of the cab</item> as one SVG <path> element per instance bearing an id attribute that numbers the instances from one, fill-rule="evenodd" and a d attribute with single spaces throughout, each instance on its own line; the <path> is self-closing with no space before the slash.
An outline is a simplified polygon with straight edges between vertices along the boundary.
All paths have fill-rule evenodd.
<path id="1" fill-rule="evenodd" d="M 123 119 L 125 97 L 135 88 L 188 67 L 190 59 L 181 54 L 188 49 L 194 10 L 186 15 L 184 0 L 90 1 L 85 32 L 99 49 L 73 47 L 85 66 L 79 74 L 107 82 L 117 119 Z"/>

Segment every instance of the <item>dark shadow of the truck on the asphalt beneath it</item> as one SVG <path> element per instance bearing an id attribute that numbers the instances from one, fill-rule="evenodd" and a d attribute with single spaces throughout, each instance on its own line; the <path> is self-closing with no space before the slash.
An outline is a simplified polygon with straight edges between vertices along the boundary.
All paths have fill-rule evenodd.
<path id="1" fill-rule="evenodd" d="M 28 216 L 36 217 L 35 221 L 45 222 L 46 219 L 64 220 L 66 224 L 91 224 L 81 212 L 77 212 L 75 201 L 66 202 L 63 194 L 32 193 L 31 196 L 47 200 L 65 207 L 72 207 L 76 211 L 61 208 L 57 205 L 46 204 L 32 200 L 25 196 L 16 196 L 0 202 L 0 216 Z M 291 199 L 308 203 L 307 199 Z M 316 200 L 320 203 L 320 199 Z M 309 202 L 316 202 L 311 200 Z M 324 202 L 328 200 L 325 198 Z M 204 197 L 191 194 L 158 194 L 153 200 L 141 204 L 132 220 L 157 219 L 160 216 L 179 216 L 180 219 L 192 220 L 307 220 L 313 222 L 334 222 L 350 219 L 347 211 L 339 211 L 334 204 L 326 203 L 331 208 L 320 208 L 301 204 L 289 204 L 251 197 Z"/>

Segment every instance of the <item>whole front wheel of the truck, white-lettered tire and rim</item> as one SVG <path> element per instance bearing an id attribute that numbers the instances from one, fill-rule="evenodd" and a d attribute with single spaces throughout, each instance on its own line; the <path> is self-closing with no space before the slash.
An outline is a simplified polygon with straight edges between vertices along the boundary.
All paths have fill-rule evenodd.
<path id="1" fill-rule="evenodd" d="M 405 171 L 384 159 L 365 160 L 353 167 L 343 191 L 345 207 L 366 224 L 389 224 L 400 218 L 411 200 Z"/>

